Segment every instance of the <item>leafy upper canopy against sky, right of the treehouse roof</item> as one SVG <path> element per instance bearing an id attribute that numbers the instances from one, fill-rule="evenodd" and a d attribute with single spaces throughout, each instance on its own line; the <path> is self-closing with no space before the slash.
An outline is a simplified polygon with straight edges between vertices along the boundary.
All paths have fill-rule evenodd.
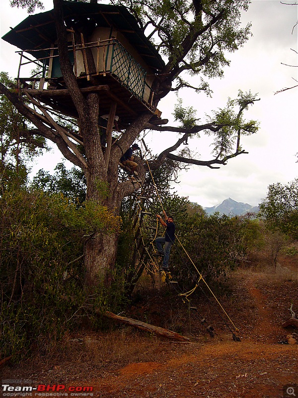
<path id="1" fill-rule="evenodd" d="M 247 0 L 119 3 L 128 6 L 143 26 L 147 24 L 151 40 L 171 65 L 181 62 L 181 70 L 189 70 L 191 74 L 222 76 L 223 66 L 229 64 L 226 54 L 237 50 L 250 35 L 250 24 L 240 26 L 240 12 L 247 9 Z M 194 44 L 188 47 L 192 41 Z"/>

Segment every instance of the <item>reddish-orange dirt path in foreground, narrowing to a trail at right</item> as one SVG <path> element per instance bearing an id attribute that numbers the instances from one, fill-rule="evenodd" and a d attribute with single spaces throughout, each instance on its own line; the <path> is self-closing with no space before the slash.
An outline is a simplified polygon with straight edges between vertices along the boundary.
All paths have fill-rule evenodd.
<path id="1" fill-rule="evenodd" d="M 98 397 L 280 398 L 283 387 L 298 383 L 297 346 L 277 343 L 285 333 L 273 321 L 258 274 L 247 276 L 258 322 L 241 343 L 191 344 L 166 362 L 133 363 L 92 380 Z"/>

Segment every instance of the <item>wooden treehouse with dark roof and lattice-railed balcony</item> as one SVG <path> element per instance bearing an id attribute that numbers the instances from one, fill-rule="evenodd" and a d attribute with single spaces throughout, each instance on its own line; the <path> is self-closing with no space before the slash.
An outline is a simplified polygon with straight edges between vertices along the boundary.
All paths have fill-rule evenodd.
<path id="1" fill-rule="evenodd" d="M 151 85 L 164 63 L 127 8 L 65 1 L 63 10 L 74 75 L 83 95 L 100 93 L 100 115 L 116 103 L 122 127 L 145 110 L 159 116 Z M 19 91 L 77 117 L 61 73 L 53 10 L 28 16 L 2 38 L 20 49 Z"/>

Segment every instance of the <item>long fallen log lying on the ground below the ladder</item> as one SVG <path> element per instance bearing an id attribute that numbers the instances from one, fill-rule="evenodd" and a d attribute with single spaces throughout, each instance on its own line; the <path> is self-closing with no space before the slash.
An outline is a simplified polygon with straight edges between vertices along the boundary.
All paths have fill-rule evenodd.
<path id="1" fill-rule="evenodd" d="M 100 311 L 96 311 L 99 313 Z M 137 319 L 127 318 L 126 316 L 116 315 L 113 312 L 106 311 L 104 315 L 108 318 L 114 319 L 118 322 L 125 323 L 130 326 L 137 327 L 138 329 L 145 330 L 146 332 L 153 332 L 159 336 L 166 337 L 167 339 L 177 340 L 177 341 L 190 341 L 188 337 L 182 336 L 172 330 L 164 329 L 159 326 L 150 325 L 149 323 L 142 322 Z"/>

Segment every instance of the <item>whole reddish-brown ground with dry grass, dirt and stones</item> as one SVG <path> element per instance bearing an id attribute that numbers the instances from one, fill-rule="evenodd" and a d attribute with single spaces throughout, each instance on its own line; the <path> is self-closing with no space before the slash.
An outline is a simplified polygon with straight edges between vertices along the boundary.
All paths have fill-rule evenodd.
<path id="1" fill-rule="evenodd" d="M 204 296 L 191 302 L 198 314 L 188 311 L 168 287 L 143 292 L 125 315 L 175 330 L 190 337 L 190 343 L 123 325 L 106 333 L 82 331 L 67 336 L 60 352 L 19 366 L 6 364 L 2 384 L 10 379 L 52 388 L 46 392 L 39 387 L 33 397 L 297 397 L 298 330 L 281 326 L 291 316 L 292 303 L 298 313 L 297 271 L 298 261 L 288 261 L 276 272 L 245 268 L 232 276 L 220 302 L 239 331 L 218 304 Z M 208 320 L 203 325 L 202 316 Z M 209 324 L 216 333 L 213 338 L 206 330 Z M 233 333 L 240 342 L 233 340 Z M 53 385 L 65 387 L 53 392 Z"/>

